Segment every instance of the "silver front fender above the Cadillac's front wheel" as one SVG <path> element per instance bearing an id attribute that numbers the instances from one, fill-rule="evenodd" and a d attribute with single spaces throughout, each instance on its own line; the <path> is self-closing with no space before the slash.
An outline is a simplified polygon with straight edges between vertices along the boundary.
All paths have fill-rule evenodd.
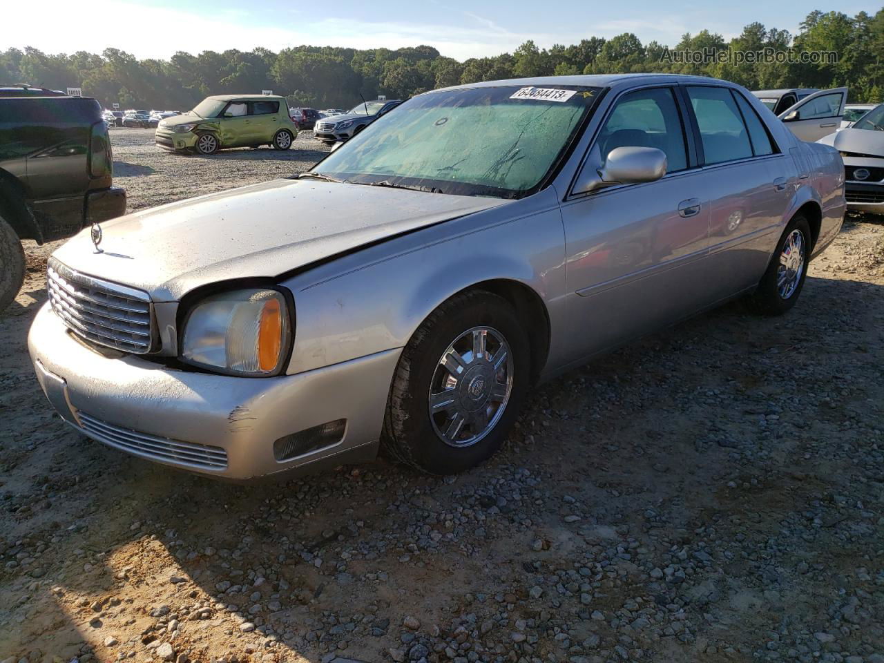
<path id="1" fill-rule="evenodd" d="M 287 372 L 403 347 L 439 304 L 492 279 L 514 281 L 537 293 L 554 334 L 564 324 L 565 249 L 558 208 L 473 232 L 452 232 L 479 225 L 479 217 L 499 217 L 519 203 L 345 256 L 342 263 L 354 263 L 354 269 L 332 278 L 316 282 L 319 274 L 309 273 L 284 281 L 293 290 L 298 318 Z M 337 265 L 334 271 L 340 269 Z"/>

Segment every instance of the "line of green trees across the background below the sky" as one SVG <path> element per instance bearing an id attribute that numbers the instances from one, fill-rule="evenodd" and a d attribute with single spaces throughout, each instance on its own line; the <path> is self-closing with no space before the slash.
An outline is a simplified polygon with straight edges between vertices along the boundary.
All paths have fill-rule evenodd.
<path id="1" fill-rule="evenodd" d="M 801 57 L 740 59 L 739 53 L 834 53 L 818 61 Z M 674 57 L 690 52 L 699 57 Z M 834 60 L 834 61 L 833 61 Z M 292 106 L 349 108 L 361 99 L 386 95 L 405 99 L 434 88 L 527 76 L 579 73 L 671 72 L 732 80 L 750 89 L 848 86 L 851 102 L 882 101 L 884 9 L 812 11 L 797 34 L 751 23 L 725 40 L 702 30 L 684 34 L 674 47 L 643 44 L 635 34 L 589 37 L 577 44 L 540 49 L 524 42 L 512 53 L 459 62 L 431 46 L 356 50 L 297 46 L 274 53 L 203 51 L 175 53 L 168 60 L 139 60 L 118 49 L 98 55 L 78 51 L 50 55 L 27 47 L 0 52 L 0 83 L 26 82 L 46 88 L 80 87 L 103 105 L 186 110 L 207 95 L 251 94 L 272 89 Z"/>

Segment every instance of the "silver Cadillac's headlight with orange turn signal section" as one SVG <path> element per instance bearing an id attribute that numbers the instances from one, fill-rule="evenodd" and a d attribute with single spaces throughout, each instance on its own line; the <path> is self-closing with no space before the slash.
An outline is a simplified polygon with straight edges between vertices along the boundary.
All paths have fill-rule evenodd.
<path id="1" fill-rule="evenodd" d="M 233 290 L 197 304 L 184 325 L 181 358 L 238 375 L 274 375 L 291 339 L 286 300 L 269 289 Z"/>

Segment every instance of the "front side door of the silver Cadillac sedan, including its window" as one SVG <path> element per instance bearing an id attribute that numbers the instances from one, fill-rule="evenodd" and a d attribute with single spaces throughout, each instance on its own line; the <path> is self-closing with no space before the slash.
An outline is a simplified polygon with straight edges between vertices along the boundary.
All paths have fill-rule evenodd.
<path id="1" fill-rule="evenodd" d="M 662 179 L 615 185 L 562 203 L 572 360 L 673 322 L 707 300 L 709 205 L 686 109 L 672 87 L 621 95 L 583 168 L 620 147 L 667 155 Z"/>

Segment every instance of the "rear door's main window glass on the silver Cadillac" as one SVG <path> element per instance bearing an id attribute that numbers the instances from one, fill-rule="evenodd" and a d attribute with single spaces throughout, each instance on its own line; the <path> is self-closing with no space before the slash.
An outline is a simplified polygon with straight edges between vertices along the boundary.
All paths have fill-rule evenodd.
<path id="1" fill-rule="evenodd" d="M 706 164 L 752 156 L 749 133 L 728 88 L 688 88 Z"/>

